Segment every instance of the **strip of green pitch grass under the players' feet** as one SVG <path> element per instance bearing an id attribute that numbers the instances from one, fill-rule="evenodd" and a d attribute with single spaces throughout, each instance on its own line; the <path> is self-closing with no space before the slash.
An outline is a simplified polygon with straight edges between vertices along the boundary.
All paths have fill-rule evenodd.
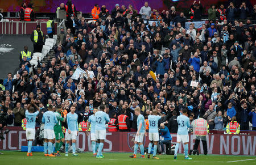
<path id="1" fill-rule="evenodd" d="M 43 153 L 32 153 L 33 156 L 27 156 L 27 153 L 20 151 L 2 151 L 3 155 L 0 155 L 0 164 L 22 164 L 22 165 L 39 165 L 39 164 L 256 164 L 256 156 L 226 156 L 226 155 L 191 155 L 192 160 L 185 160 L 184 155 L 177 155 L 177 159 L 174 160 L 174 155 L 157 155 L 160 159 L 141 159 L 141 158 L 129 158 L 130 153 L 104 153 L 104 159 L 94 158 L 92 153 L 82 153 L 75 157 L 69 153 L 66 157 L 64 153 L 61 153 L 59 157 L 45 157 Z M 140 156 L 139 154 L 137 155 Z M 252 159 L 252 160 L 248 160 Z M 230 162 L 237 161 L 240 162 Z"/>

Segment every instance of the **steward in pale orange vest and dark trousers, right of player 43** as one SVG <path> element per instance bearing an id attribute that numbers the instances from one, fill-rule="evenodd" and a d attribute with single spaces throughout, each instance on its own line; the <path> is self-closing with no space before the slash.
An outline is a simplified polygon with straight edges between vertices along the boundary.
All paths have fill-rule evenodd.
<path id="1" fill-rule="evenodd" d="M 191 126 L 193 127 L 193 134 L 195 138 L 195 145 L 193 150 L 197 150 L 200 139 L 203 143 L 203 149 L 204 149 L 204 154 L 207 155 L 207 133 L 209 132 L 208 128 L 209 125 L 206 120 L 203 119 L 203 116 L 199 116 L 199 119 L 196 119 L 192 121 Z"/>

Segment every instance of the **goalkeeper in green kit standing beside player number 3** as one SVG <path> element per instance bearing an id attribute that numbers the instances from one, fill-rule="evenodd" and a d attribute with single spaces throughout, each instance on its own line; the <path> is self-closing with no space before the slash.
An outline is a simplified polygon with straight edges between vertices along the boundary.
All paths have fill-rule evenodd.
<path id="1" fill-rule="evenodd" d="M 57 117 L 57 124 L 54 126 L 54 133 L 56 137 L 56 144 L 55 144 L 55 155 L 60 156 L 59 150 L 62 144 L 65 142 L 64 134 L 61 128 L 61 122 L 66 121 L 67 111 L 61 109 L 61 105 L 57 105 L 56 107 L 56 117 Z"/>

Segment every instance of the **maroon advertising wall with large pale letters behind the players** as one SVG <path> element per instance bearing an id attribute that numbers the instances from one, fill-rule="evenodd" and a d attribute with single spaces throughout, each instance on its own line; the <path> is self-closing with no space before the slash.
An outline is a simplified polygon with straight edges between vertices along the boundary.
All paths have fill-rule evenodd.
<path id="1" fill-rule="evenodd" d="M 9 127 L 10 132 L 5 140 L 0 140 L 0 150 L 20 150 L 26 146 L 26 131 L 20 127 Z M 133 152 L 134 138 L 136 133 L 131 132 L 107 132 L 104 151 L 109 152 Z M 176 142 L 176 134 L 172 135 L 172 141 Z M 189 138 L 192 139 L 190 134 Z M 144 138 L 145 146 L 148 138 Z M 189 149 L 193 149 L 193 141 L 189 141 Z M 225 134 L 224 131 L 214 131 L 207 138 L 208 154 L 221 155 L 256 155 L 256 132 L 241 132 L 239 135 Z M 85 132 L 79 132 L 77 146 L 84 151 L 92 151 L 90 137 Z M 180 147 L 179 153 L 183 153 L 184 147 Z M 203 154 L 203 145 L 200 145 L 200 153 Z"/>

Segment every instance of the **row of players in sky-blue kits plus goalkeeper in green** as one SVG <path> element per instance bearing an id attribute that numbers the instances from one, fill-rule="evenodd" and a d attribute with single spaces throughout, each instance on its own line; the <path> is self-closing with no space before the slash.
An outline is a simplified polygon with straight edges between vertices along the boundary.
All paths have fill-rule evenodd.
<path id="1" fill-rule="evenodd" d="M 35 108 L 38 111 L 35 111 Z M 39 108 L 35 105 L 34 101 L 31 101 L 31 104 L 28 106 L 26 110 L 26 136 L 28 140 L 28 152 L 27 156 L 32 156 L 31 148 L 32 141 L 35 138 L 35 121 L 36 116 L 39 113 Z M 65 142 L 65 156 L 68 156 L 69 143 L 72 142 L 72 155 L 78 156 L 76 154 L 76 138 L 79 133 L 79 127 L 77 124 L 77 114 L 75 113 L 76 107 L 71 106 L 71 112 L 67 113 L 67 111 L 63 111 L 61 106 L 56 107 L 56 112 L 53 112 L 51 105 L 48 107 L 48 111 L 43 113 L 42 122 L 44 123 L 44 155 L 45 156 L 60 156 L 59 150 L 60 147 Z M 93 109 L 93 115 L 91 115 L 88 119 L 88 127 L 86 130 L 87 136 L 89 136 L 89 128 L 90 128 L 90 139 L 92 142 L 92 151 L 93 156 L 96 158 L 104 158 L 102 155 L 102 149 L 104 146 L 104 141 L 106 139 L 106 126 L 105 124 L 109 122 L 109 116 L 105 112 L 105 105 L 100 105 L 98 109 Z M 134 113 L 137 118 L 137 133 L 134 140 L 134 154 L 130 156 L 130 158 L 137 157 L 138 148 L 141 150 L 141 158 L 145 158 L 144 156 L 144 146 L 143 139 L 144 136 L 147 136 L 145 121 L 143 115 L 141 115 L 141 109 L 139 107 L 134 109 Z M 154 152 L 153 159 L 159 159 L 156 157 L 156 150 L 159 141 L 159 133 L 158 133 L 158 121 L 160 120 L 160 116 L 158 116 L 157 111 L 153 111 L 152 115 L 148 116 L 148 138 L 150 143 L 148 144 L 148 155 L 147 158 L 150 158 L 151 148 L 154 144 Z M 67 120 L 68 129 L 65 130 L 65 138 L 63 134 L 63 130 L 61 127 L 61 122 L 65 122 Z M 191 159 L 188 157 L 188 128 L 190 126 L 189 119 L 187 117 L 187 110 L 183 109 L 183 114 L 177 117 L 177 123 L 179 124 L 179 129 L 177 131 L 177 143 L 175 146 L 175 155 L 174 159 L 177 158 L 177 150 L 179 149 L 179 145 L 181 142 L 184 143 L 184 151 L 185 151 L 185 159 Z M 55 151 L 53 144 L 55 143 Z"/>

